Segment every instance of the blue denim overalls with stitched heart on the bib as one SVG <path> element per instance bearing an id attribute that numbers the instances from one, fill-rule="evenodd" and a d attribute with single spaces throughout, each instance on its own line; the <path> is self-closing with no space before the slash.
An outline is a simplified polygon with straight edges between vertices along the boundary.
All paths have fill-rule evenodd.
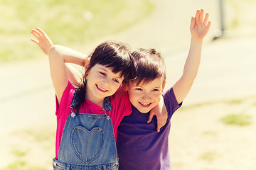
<path id="1" fill-rule="evenodd" d="M 71 108 L 78 98 L 73 96 Z M 105 115 L 75 113 L 65 122 L 53 169 L 87 170 L 118 169 L 117 147 L 114 140 L 110 97 L 104 100 Z"/>

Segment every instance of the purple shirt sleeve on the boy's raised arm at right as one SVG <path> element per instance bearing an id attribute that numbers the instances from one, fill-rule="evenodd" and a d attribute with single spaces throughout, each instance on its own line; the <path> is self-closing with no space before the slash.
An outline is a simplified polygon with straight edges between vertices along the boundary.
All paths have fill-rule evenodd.
<path id="1" fill-rule="evenodd" d="M 171 88 L 164 93 L 164 103 L 166 105 L 167 112 L 171 118 L 174 112 L 181 107 L 182 102 L 178 103 L 176 96 L 174 94 L 174 89 Z"/>

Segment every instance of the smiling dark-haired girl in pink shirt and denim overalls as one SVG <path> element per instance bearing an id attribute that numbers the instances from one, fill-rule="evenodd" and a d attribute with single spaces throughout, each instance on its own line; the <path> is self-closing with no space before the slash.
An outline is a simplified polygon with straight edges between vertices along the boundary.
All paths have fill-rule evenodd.
<path id="1" fill-rule="evenodd" d="M 49 56 L 56 93 L 53 169 L 118 169 L 114 137 L 122 118 L 132 112 L 127 94 L 118 99 L 121 84 L 134 78 L 129 48 L 113 41 L 98 45 L 89 55 L 82 84 L 75 89 L 68 81 L 65 63 L 84 66 L 86 56 L 62 55 L 68 49 L 53 45 L 43 30 L 31 33 L 37 39 L 31 40 Z"/>

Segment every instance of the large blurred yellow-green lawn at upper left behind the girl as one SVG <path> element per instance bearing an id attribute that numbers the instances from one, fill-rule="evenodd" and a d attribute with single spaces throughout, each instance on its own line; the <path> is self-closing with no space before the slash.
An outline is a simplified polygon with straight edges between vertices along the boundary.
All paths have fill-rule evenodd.
<path id="1" fill-rule="evenodd" d="M 154 10 L 149 0 L 9 0 L 1 2 L 0 62 L 35 58 L 30 30 L 42 28 L 54 43 L 86 44 L 142 21 Z"/>

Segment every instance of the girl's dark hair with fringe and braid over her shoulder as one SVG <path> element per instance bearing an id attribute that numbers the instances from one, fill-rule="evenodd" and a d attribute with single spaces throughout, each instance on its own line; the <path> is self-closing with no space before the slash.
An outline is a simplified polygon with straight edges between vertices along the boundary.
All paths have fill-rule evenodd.
<path id="1" fill-rule="evenodd" d="M 102 42 L 88 57 L 90 57 L 89 67 L 82 77 L 82 84 L 75 90 L 76 96 L 78 96 L 78 102 L 75 103 L 74 109 L 77 112 L 81 104 L 85 101 L 87 72 L 89 72 L 95 64 L 111 67 L 114 74 L 120 72 L 120 77 L 124 77 L 122 81 L 123 84 L 134 79 L 134 60 L 130 53 L 129 45 L 124 42 L 112 40 Z"/>

